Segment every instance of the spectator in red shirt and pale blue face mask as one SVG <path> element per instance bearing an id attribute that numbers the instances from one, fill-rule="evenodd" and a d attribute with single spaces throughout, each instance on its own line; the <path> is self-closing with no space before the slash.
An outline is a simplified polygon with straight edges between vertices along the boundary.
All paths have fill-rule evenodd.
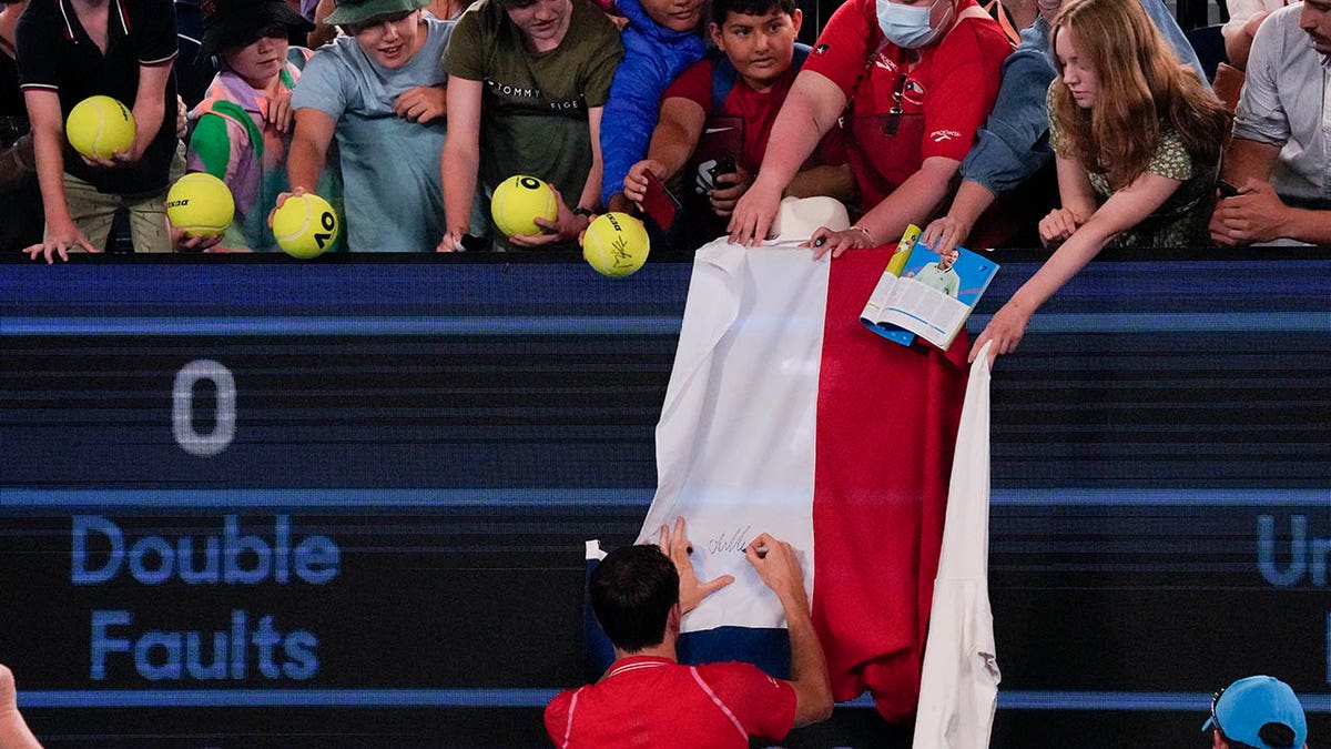
<path id="1" fill-rule="evenodd" d="M 772 127 L 771 141 L 785 148 L 768 149 L 735 207 L 731 240 L 767 237 L 781 191 L 843 113 L 862 215 L 847 231 L 815 232 L 815 259 L 892 244 L 906 225 L 926 224 L 993 108 L 1010 51 L 974 0 L 837 8 Z"/>

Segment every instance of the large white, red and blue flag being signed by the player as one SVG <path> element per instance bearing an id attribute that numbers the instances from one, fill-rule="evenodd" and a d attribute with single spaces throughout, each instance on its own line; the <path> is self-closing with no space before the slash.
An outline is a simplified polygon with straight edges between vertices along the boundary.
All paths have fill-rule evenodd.
<path id="1" fill-rule="evenodd" d="M 860 323 L 893 248 L 812 261 L 792 241 L 697 251 L 656 428 L 640 540 L 683 516 L 703 580 L 736 582 L 684 617 L 680 657 L 788 668 L 776 597 L 744 561 L 760 532 L 797 549 L 833 696 L 913 716 L 965 390 L 944 353 Z M 783 665 L 784 664 L 784 665 Z"/>

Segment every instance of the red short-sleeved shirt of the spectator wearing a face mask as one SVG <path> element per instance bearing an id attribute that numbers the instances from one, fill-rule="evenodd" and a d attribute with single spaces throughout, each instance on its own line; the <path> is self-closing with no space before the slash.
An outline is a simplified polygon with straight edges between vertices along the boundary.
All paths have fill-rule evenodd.
<path id="1" fill-rule="evenodd" d="M 972 7 L 974 0 L 961 0 L 957 12 Z M 964 17 L 942 41 L 912 51 L 882 39 L 874 0 L 837 8 L 803 69 L 827 76 L 849 100 L 847 151 L 865 208 L 925 159 L 965 159 L 998 96 L 1009 52 L 989 17 Z"/>

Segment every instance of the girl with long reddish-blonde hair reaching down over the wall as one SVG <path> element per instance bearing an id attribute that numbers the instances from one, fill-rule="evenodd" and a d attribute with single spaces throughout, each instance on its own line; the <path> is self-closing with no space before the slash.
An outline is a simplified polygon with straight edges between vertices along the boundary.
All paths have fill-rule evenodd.
<path id="1" fill-rule="evenodd" d="M 1062 205 L 1040 223 L 1053 257 L 976 340 L 1012 353 L 1036 309 L 1110 247 L 1206 241 L 1225 105 L 1137 0 L 1077 0 L 1054 19 L 1049 139 Z"/>

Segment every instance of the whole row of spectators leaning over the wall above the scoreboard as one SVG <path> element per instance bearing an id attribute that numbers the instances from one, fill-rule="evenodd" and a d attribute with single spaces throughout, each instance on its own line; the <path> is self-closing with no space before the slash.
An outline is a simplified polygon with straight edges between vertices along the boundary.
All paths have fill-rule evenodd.
<path id="1" fill-rule="evenodd" d="M 1233 125 L 1161 0 L 847 0 L 812 49 L 792 0 L 202 0 L 190 61 L 173 0 L 0 1 L 0 249 L 48 261 L 104 251 L 126 213 L 136 252 L 273 251 L 269 212 L 302 192 L 343 216 L 343 249 L 568 247 L 639 211 L 651 173 L 684 197 L 654 235 L 676 249 L 761 241 L 788 196 L 851 208 L 816 256 L 909 224 L 937 249 L 1061 245 L 1014 300 L 1029 316 L 1105 245 L 1331 232 L 1327 99 L 1300 96 L 1327 87 L 1323 0 L 1234 0 Z M 216 71 L 201 101 L 181 63 Z M 64 120 L 98 93 L 137 136 L 88 159 Z M 186 169 L 230 187 L 224 236 L 168 225 Z M 559 193 L 539 235 L 490 221 L 515 173 Z"/>

